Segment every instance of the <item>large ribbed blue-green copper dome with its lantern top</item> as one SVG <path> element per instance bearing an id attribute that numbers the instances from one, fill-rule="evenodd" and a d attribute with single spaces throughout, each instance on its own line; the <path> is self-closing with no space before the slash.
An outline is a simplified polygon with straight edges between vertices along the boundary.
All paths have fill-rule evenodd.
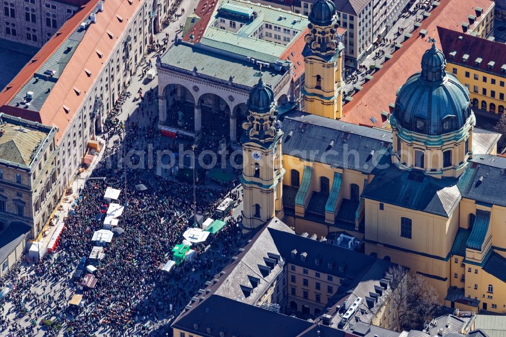
<path id="1" fill-rule="evenodd" d="M 398 127 L 437 136 L 460 130 L 472 114 L 469 91 L 444 69 L 446 60 L 436 45 L 421 58 L 421 71 L 399 90 L 393 117 Z"/>

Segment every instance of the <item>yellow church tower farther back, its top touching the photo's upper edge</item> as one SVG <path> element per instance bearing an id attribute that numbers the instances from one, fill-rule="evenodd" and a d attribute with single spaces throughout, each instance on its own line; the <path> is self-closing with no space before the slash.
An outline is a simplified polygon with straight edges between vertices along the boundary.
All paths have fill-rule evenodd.
<path id="1" fill-rule="evenodd" d="M 335 5 L 330 0 L 316 0 L 309 14 L 305 63 L 304 110 L 308 113 L 339 119 L 343 111 L 342 51 Z"/>

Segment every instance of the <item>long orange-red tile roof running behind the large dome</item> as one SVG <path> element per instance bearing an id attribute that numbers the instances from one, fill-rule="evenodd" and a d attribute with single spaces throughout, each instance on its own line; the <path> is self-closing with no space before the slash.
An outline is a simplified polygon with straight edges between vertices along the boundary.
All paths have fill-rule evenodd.
<path id="1" fill-rule="evenodd" d="M 406 79 L 420 71 L 420 60 L 424 52 L 430 48 L 427 41 L 436 33 L 437 27 L 462 31 L 462 22 L 469 22 L 468 15 L 475 15 L 475 7 L 484 12 L 493 6 L 491 0 L 445 0 L 441 1 L 431 15 L 422 21 L 421 27 L 415 29 L 410 38 L 402 43 L 402 48 L 394 53 L 394 57 L 383 64 L 383 68 L 373 74 L 373 79 L 362 85 L 363 89 L 353 96 L 353 100 L 343 106 L 343 121 L 369 127 L 383 127 L 381 111 L 390 112 L 389 104 L 395 103 L 396 92 Z M 470 28 L 472 25 L 470 25 Z M 425 29 L 428 36 L 420 35 Z M 440 38 L 436 36 L 438 48 Z M 370 118 L 374 117 L 373 123 Z"/>

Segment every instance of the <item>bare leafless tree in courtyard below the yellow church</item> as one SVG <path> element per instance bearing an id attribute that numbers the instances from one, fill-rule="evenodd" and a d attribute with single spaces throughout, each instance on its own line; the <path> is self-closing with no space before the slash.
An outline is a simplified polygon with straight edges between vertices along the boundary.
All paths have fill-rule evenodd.
<path id="1" fill-rule="evenodd" d="M 397 265 L 390 267 L 391 301 L 397 318 L 397 331 L 420 329 L 440 309 L 439 294 L 420 274 L 408 273 Z"/>

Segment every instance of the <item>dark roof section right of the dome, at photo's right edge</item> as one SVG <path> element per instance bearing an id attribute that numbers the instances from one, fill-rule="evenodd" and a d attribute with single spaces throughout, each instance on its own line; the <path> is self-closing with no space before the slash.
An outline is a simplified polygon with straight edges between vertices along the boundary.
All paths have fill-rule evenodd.
<path id="1" fill-rule="evenodd" d="M 458 181 L 462 197 L 506 206 L 506 171 L 503 170 L 504 168 L 506 168 L 506 158 L 491 154 L 475 155 L 470 160 L 466 172 L 460 176 Z"/>

